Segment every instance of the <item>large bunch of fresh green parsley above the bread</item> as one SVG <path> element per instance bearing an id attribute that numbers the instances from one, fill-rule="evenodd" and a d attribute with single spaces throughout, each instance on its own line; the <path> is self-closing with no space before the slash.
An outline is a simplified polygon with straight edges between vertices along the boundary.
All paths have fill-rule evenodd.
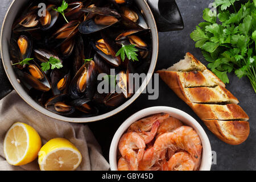
<path id="1" fill-rule="evenodd" d="M 239 0 L 215 0 L 216 10 L 203 12 L 202 22 L 191 33 L 196 47 L 202 49 L 212 70 L 223 82 L 234 71 L 239 78 L 247 76 L 256 93 L 256 0 L 236 9 Z M 217 23 L 218 22 L 218 23 Z"/>

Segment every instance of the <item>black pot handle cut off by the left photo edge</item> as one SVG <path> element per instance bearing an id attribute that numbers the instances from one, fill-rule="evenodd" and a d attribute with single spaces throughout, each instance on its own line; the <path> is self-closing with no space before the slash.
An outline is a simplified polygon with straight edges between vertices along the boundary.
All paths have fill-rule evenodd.
<path id="1" fill-rule="evenodd" d="M 5 69 L 3 68 L 2 59 L 0 59 L 0 100 L 7 96 L 12 90 L 13 86 L 11 86 L 9 79 L 6 76 Z"/>

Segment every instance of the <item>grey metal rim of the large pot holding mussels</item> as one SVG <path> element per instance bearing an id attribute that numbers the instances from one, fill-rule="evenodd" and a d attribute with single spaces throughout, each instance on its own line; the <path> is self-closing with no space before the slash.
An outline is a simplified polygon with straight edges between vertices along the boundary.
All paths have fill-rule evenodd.
<path id="1" fill-rule="evenodd" d="M 3 48 L 2 48 L 2 42 L 3 42 L 3 31 L 5 30 L 5 24 L 7 21 L 7 16 L 9 16 L 10 11 L 14 9 L 14 5 L 15 2 L 17 2 L 17 0 L 13 0 L 9 6 L 9 9 L 6 12 L 5 18 L 3 19 L 3 23 L 2 23 L 2 29 L 1 29 L 1 35 L 0 35 L 0 52 L 1 52 L 1 57 L 2 57 L 2 63 L 3 63 L 3 68 L 5 69 L 6 75 L 9 78 L 9 81 L 11 83 L 11 85 L 13 86 L 14 90 L 16 91 L 16 93 L 19 94 L 19 96 L 25 101 L 27 102 L 28 105 L 30 105 L 32 108 L 34 108 L 35 110 L 39 111 L 40 113 L 47 115 L 48 117 L 51 117 L 53 119 L 57 119 L 60 121 L 65 121 L 65 122 L 73 122 L 73 123 L 89 123 L 89 122 L 95 122 L 95 121 L 100 121 L 102 119 L 106 119 L 109 117 L 112 117 L 115 114 L 118 114 L 119 112 L 121 112 L 122 110 L 126 109 L 126 107 L 128 107 L 129 105 L 131 105 L 143 92 L 144 89 L 146 89 L 146 86 L 148 85 L 148 82 L 151 80 L 152 78 L 152 74 L 154 74 L 155 71 L 155 67 L 156 67 L 156 63 L 158 60 L 158 53 L 159 53 L 159 37 L 158 37 L 158 28 L 156 27 L 156 22 L 155 22 L 155 18 L 154 15 L 152 14 L 152 11 L 150 9 L 150 7 L 148 6 L 146 0 L 142 0 L 142 1 L 138 1 L 137 5 L 141 6 L 142 3 L 144 3 L 145 5 L 145 11 L 144 14 L 148 14 L 148 16 L 151 16 L 151 20 L 153 22 L 152 27 L 154 27 L 155 29 L 155 39 L 156 39 L 156 49 L 155 49 L 155 59 L 154 56 L 151 57 L 151 64 L 150 64 L 150 68 L 147 71 L 147 76 L 145 78 L 145 80 L 142 82 L 139 90 L 141 90 L 138 93 L 135 93 L 133 97 L 131 97 L 129 100 L 127 100 L 126 102 L 124 102 L 122 105 L 118 106 L 117 108 L 115 108 L 112 111 L 109 111 L 108 113 L 105 114 L 101 114 L 101 115 L 97 115 L 94 117 L 88 117 L 88 118 L 69 118 L 69 117 L 64 117 L 62 115 L 59 114 L 55 114 L 52 113 L 51 111 L 45 109 L 44 107 L 40 106 L 36 101 L 32 100 L 32 98 L 30 96 L 28 96 L 28 93 L 26 93 L 26 91 L 19 85 L 19 82 L 16 80 L 16 76 L 15 75 L 11 75 L 9 72 L 7 72 L 8 69 L 12 69 L 11 65 L 6 65 L 3 59 Z M 147 18 L 146 18 L 147 19 Z M 148 20 L 148 19 L 147 19 Z M 152 41 L 152 43 L 154 43 Z"/>

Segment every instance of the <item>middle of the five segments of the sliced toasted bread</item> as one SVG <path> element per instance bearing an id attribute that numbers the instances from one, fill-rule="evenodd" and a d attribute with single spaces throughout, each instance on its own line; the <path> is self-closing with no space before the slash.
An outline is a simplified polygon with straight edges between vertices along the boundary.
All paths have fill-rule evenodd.
<path id="1" fill-rule="evenodd" d="M 222 86 L 214 88 L 195 87 L 195 88 L 171 88 L 184 102 L 198 104 L 238 104 L 238 100 L 227 89 Z"/>

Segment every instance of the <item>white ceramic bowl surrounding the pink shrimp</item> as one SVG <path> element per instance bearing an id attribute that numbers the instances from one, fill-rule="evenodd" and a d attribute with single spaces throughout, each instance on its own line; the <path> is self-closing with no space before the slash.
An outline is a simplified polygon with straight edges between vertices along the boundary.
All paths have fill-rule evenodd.
<path id="1" fill-rule="evenodd" d="M 167 113 L 170 114 L 172 117 L 179 119 L 184 125 L 191 126 L 193 129 L 196 130 L 197 134 L 199 135 L 202 145 L 203 145 L 203 155 L 201 160 L 201 166 L 199 168 L 200 171 L 210 171 L 210 167 L 212 165 L 212 149 L 210 147 L 210 142 L 205 133 L 204 129 L 201 125 L 191 117 L 191 115 L 181 111 L 179 109 L 175 109 L 173 107 L 166 107 L 166 106 L 156 106 L 156 107 L 148 107 L 147 109 L 143 109 L 138 111 L 137 113 L 131 115 L 122 125 L 119 127 L 117 132 L 115 133 L 112 143 L 110 146 L 109 151 L 109 162 L 110 162 L 110 169 L 112 171 L 117 171 L 117 150 L 118 150 L 118 142 L 123 133 L 128 129 L 128 127 L 138 121 L 139 119 L 146 117 L 151 114 L 157 113 Z"/>

